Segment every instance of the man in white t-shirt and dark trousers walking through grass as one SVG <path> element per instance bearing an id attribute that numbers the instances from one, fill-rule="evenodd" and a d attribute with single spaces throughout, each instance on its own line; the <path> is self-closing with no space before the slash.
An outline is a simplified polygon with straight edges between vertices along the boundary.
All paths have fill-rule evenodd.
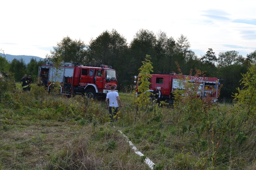
<path id="1" fill-rule="evenodd" d="M 109 110 L 111 122 L 113 122 L 113 117 L 117 114 L 118 112 L 118 103 L 120 104 L 120 107 L 122 107 L 121 100 L 119 98 L 118 92 L 115 92 L 115 86 L 110 87 L 111 92 L 107 93 L 106 97 L 106 104 L 107 104 L 107 109 Z M 108 105 L 108 100 L 109 100 L 109 105 Z M 112 108 L 114 111 L 112 111 Z"/>

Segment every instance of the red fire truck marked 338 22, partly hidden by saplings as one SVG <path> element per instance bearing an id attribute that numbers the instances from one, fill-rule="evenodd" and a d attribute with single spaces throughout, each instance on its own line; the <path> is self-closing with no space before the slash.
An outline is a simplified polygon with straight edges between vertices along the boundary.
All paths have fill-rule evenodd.
<path id="1" fill-rule="evenodd" d="M 134 83 L 136 83 L 136 91 L 138 87 L 138 77 L 135 76 Z M 211 96 L 212 101 L 217 101 L 217 92 L 219 79 L 215 77 L 195 77 L 190 75 L 178 75 L 178 74 L 152 74 L 150 78 L 150 87 L 148 91 L 153 92 L 154 89 L 161 89 L 163 98 L 162 100 L 169 100 L 169 94 L 175 89 L 184 89 L 184 84 L 182 82 L 189 81 L 199 85 L 198 96 L 203 99 Z M 137 91 L 138 92 L 138 91 Z"/>

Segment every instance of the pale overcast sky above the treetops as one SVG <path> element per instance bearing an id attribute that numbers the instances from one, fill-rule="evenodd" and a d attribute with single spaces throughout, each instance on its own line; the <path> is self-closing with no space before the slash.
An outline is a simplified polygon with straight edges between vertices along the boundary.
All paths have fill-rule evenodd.
<path id="1" fill-rule="evenodd" d="M 5 54 L 45 57 L 63 37 L 89 44 L 115 29 L 130 43 L 139 29 L 160 30 L 175 40 L 181 34 L 198 57 L 212 48 L 256 50 L 256 1 L 253 0 L 2 0 L 0 49 Z M 1 51 L 0 51 L 1 52 Z"/>

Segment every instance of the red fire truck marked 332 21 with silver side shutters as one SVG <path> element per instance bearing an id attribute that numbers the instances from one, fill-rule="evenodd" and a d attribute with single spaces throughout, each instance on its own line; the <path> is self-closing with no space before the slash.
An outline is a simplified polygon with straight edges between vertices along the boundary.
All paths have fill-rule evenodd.
<path id="1" fill-rule="evenodd" d="M 43 80 L 48 92 L 53 84 L 59 84 L 60 94 L 65 95 L 86 94 L 87 98 L 95 98 L 110 92 L 110 86 L 117 88 L 116 71 L 106 65 L 61 63 L 61 66 L 54 66 L 54 63 L 47 61 L 39 66 L 38 77 Z"/>

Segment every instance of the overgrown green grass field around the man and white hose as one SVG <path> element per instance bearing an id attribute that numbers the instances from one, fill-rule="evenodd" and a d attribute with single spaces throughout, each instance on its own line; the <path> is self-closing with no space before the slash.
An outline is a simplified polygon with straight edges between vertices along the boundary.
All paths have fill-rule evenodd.
<path id="1" fill-rule="evenodd" d="M 66 97 L 32 85 L 2 92 L 0 169 L 255 169 L 255 114 L 232 104 L 198 101 L 175 108 L 138 108 L 119 92 L 123 107 L 109 124 L 104 100 Z"/>

